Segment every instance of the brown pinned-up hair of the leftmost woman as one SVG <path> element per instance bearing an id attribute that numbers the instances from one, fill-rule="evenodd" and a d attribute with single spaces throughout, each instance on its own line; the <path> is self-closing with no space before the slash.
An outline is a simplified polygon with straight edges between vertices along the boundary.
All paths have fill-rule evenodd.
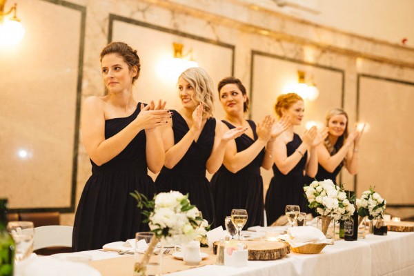
<path id="1" fill-rule="evenodd" d="M 139 63 L 139 57 L 137 50 L 132 49 L 125 42 L 111 42 L 101 52 L 101 62 L 102 58 L 108 54 L 118 54 L 124 58 L 128 68 L 131 70 L 134 66 L 137 66 L 137 75 L 132 78 L 132 83 L 134 83 L 139 77 L 139 71 L 141 71 L 141 63 Z"/>

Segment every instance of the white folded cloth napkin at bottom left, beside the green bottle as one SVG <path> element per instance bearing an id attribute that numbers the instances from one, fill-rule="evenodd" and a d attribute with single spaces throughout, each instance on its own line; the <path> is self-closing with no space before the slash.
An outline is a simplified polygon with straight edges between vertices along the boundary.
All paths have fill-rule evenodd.
<path id="1" fill-rule="evenodd" d="M 30 257 L 16 266 L 16 276 L 101 276 L 98 270 L 82 262 L 67 262 L 52 256 Z"/>

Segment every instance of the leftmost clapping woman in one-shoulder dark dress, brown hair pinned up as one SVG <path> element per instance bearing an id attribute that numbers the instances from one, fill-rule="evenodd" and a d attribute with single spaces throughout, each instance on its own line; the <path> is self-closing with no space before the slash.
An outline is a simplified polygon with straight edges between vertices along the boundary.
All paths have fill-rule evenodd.
<path id="1" fill-rule="evenodd" d="M 155 186 L 147 174 L 161 170 L 165 154 L 159 126 L 171 117 L 165 102 L 135 101 L 132 85 L 141 69 L 137 51 L 112 42 L 101 52 L 101 72 L 107 94 L 92 96 L 83 104 L 83 146 L 90 157 L 92 176 L 86 182 L 75 215 L 74 251 L 102 248 L 125 241 L 148 224 L 134 190 L 152 198 Z M 151 155 L 146 155 L 150 150 Z"/>

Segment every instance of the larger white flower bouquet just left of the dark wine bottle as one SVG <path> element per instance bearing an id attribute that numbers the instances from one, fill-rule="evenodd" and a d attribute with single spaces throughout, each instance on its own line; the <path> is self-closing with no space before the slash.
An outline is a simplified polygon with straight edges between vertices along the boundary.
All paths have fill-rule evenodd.
<path id="1" fill-rule="evenodd" d="M 355 212 L 355 207 L 349 202 L 344 190 L 333 184 L 331 179 L 313 181 L 304 186 L 309 208 L 316 208 L 319 215 L 332 219 L 346 219 Z"/>

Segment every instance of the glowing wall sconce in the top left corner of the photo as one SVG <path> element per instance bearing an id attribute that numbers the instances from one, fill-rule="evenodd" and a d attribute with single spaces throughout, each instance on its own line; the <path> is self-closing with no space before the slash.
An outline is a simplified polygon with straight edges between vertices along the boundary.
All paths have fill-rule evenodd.
<path id="1" fill-rule="evenodd" d="M 6 1 L 0 0 L 0 45 L 15 45 L 23 39 L 24 28 L 16 16 L 17 4 L 5 12 Z"/>

